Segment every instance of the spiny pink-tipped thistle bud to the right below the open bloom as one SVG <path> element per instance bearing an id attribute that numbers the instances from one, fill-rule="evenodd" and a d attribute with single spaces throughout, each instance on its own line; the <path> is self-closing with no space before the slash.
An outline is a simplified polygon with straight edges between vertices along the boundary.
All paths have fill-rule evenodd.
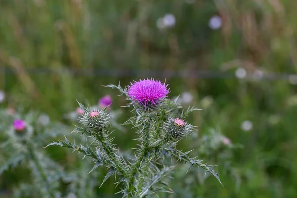
<path id="1" fill-rule="evenodd" d="M 170 118 L 165 124 L 165 130 L 173 140 L 180 140 L 194 131 L 192 125 L 179 118 Z"/>

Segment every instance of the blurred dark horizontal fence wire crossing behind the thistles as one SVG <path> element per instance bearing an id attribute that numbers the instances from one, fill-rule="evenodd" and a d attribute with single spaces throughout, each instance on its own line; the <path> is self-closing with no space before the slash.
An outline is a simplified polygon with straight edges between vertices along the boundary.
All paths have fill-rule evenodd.
<path id="1" fill-rule="evenodd" d="M 240 71 L 239 71 L 240 69 Z M 191 79 L 227 79 L 238 78 L 248 80 L 288 80 L 291 84 L 297 84 L 297 75 L 292 73 L 271 73 L 256 70 L 247 74 L 243 68 L 232 71 L 210 71 L 210 70 L 154 70 L 154 69 L 120 69 L 120 68 L 26 68 L 29 75 L 63 75 L 75 76 L 106 76 L 106 77 L 155 77 L 155 78 L 191 78 Z M 9 67 L 0 67 L 0 74 L 14 75 L 14 70 Z"/>

